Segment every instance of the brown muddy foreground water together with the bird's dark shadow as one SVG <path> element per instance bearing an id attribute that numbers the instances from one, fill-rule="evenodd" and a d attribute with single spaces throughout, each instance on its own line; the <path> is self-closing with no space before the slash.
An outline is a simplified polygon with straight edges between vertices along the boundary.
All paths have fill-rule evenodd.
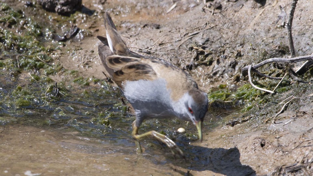
<path id="1" fill-rule="evenodd" d="M 186 175 L 190 169 L 195 175 L 224 169 L 253 173 L 240 164 L 237 148 L 181 144 L 187 156 L 184 161 L 174 160 L 160 148 L 136 154 L 132 139 L 86 137 L 69 127 L 15 124 L 2 126 L 0 132 L 0 175 Z"/>

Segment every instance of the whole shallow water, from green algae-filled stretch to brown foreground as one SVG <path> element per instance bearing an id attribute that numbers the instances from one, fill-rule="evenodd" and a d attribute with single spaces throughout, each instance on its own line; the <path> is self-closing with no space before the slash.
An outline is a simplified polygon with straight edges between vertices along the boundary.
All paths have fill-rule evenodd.
<path id="1" fill-rule="evenodd" d="M 135 117 L 121 103 L 118 89 L 105 82 L 84 88 L 61 84 L 60 92 L 66 96 L 57 98 L 45 93 L 48 84 L 25 84 L 18 79 L 3 85 L 0 96 L 8 101 L 2 101 L 0 112 L 3 161 L 0 173 L 97 175 L 105 171 L 110 175 L 184 175 L 189 170 L 245 168 L 240 164 L 238 149 L 199 146 L 195 126 L 177 118 L 147 120 L 139 132 L 166 133 L 183 150 L 186 161 L 175 159 L 165 145 L 153 140 L 141 142 L 144 152 L 137 154 L 131 138 Z M 20 107 L 10 102 L 15 100 L 15 93 L 21 97 L 27 95 L 30 105 Z M 220 120 L 219 116 L 207 118 L 203 134 L 209 133 Z M 187 133 L 178 133 L 180 127 Z M 228 158 L 236 162 L 229 162 Z"/>

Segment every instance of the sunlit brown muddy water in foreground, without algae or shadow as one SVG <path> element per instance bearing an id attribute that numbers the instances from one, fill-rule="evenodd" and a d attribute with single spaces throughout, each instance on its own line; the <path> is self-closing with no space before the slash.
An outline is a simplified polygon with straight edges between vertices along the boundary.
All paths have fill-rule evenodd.
<path id="1" fill-rule="evenodd" d="M 168 175 L 162 155 L 136 155 L 128 139 L 84 137 L 73 128 L 8 125 L 0 133 L 0 175 Z M 165 161 L 161 161 L 165 159 Z"/>

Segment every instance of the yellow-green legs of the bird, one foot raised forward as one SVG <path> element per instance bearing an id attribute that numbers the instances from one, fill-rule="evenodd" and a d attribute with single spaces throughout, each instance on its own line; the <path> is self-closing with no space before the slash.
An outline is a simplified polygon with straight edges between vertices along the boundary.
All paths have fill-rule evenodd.
<path id="1" fill-rule="evenodd" d="M 132 136 L 133 138 L 136 140 L 136 142 L 138 143 L 138 146 L 140 148 L 140 143 L 139 141 L 143 140 L 143 139 L 149 139 L 149 138 L 153 138 L 159 142 L 165 143 L 167 145 L 168 148 L 170 148 L 172 154 L 175 155 L 177 154 L 179 156 L 179 158 L 185 158 L 184 153 L 182 152 L 182 150 L 177 146 L 177 144 L 172 141 L 170 138 L 168 138 L 167 136 L 158 133 L 154 130 L 143 133 L 143 134 L 138 134 L 138 127 L 136 127 L 135 122 L 133 123 L 133 132 L 132 132 Z M 136 147 L 138 149 L 136 143 Z M 139 149 L 138 149 L 139 151 Z M 140 150 L 141 151 L 141 150 Z"/>

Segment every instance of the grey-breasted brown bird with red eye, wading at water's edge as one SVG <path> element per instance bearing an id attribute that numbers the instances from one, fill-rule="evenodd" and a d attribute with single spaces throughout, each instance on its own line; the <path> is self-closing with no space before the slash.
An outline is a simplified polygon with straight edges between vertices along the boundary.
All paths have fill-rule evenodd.
<path id="1" fill-rule="evenodd" d="M 207 93 L 198 88 L 189 73 L 177 66 L 130 51 L 107 12 L 104 23 L 106 38 L 97 36 L 101 41 L 99 57 L 104 73 L 134 109 L 136 119 L 132 123 L 131 135 L 137 152 L 142 152 L 140 141 L 152 138 L 165 143 L 174 157 L 185 158 L 182 150 L 166 135 L 155 130 L 139 134 L 139 127 L 145 119 L 178 117 L 194 123 L 202 141 L 202 124 L 208 111 Z"/>

